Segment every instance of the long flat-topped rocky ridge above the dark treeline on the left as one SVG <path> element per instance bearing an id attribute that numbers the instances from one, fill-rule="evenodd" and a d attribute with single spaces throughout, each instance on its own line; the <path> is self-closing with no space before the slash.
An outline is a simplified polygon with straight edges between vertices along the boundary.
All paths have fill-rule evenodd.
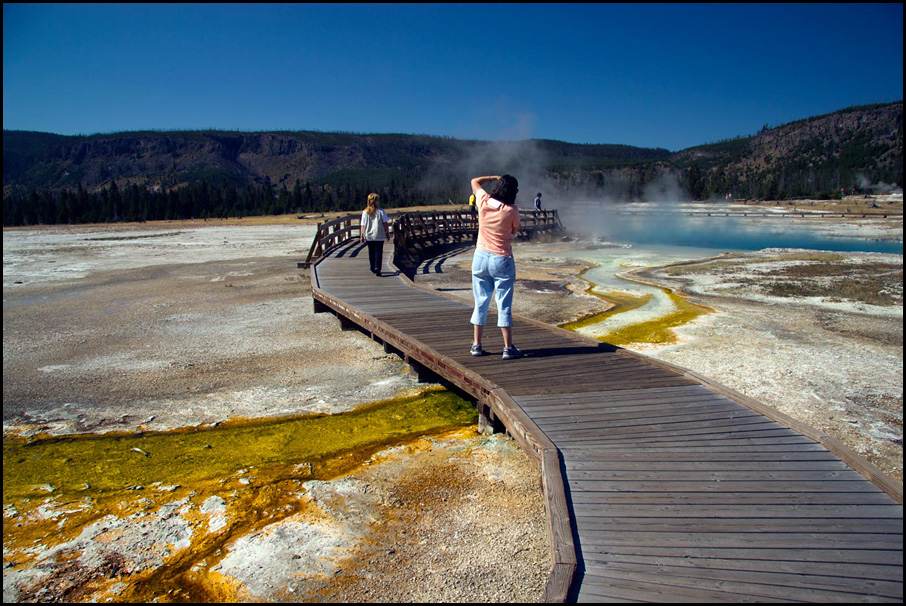
<path id="1" fill-rule="evenodd" d="M 35 188 L 88 191 L 117 181 L 173 188 L 205 179 L 209 184 L 275 187 L 302 183 L 415 183 L 461 178 L 472 157 L 506 147 L 516 172 L 526 163 L 554 166 L 665 159 L 666 150 L 621 145 L 572 145 L 558 141 L 493 144 L 417 135 L 354 135 L 317 132 L 141 132 L 67 137 L 3 132 L 4 192 Z M 531 149 L 529 149 L 531 148 Z M 543 154 L 545 160 L 536 156 Z M 478 161 L 474 163 L 479 163 Z M 463 173 L 467 174 L 467 173 Z"/>

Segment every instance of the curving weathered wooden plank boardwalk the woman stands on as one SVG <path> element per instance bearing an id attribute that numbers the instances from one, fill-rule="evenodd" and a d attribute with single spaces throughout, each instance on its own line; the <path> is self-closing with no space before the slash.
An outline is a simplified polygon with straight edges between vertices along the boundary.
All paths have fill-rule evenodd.
<path id="1" fill-rule="evenodd" d="M 549 601 L 893 601 L 902 485 L 834 439 L 694 373 L 496 316 L 473 358 L 471 303 L 368 271 L 347 243 L 312 270 L 332 311 L 472 395 L 538 465 Z M 518 267 L 518 259 L 517 259 Z M 417 278 L 416 278 L 417 280 Z M 870 478 L 870 479 L 869 479 Z"/>

